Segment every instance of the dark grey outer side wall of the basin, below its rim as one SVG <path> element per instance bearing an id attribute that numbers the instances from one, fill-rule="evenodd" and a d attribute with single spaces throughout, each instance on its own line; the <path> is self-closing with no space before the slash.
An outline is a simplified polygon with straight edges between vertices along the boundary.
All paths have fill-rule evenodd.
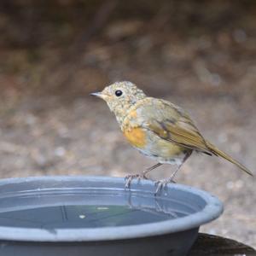
<path id="1" fill-rule="evenodd" d="M 192 247 L 198 229 L 165 236 L 151 236 L 116 241 L 87 242 L 17 242 L 1 241 L 1 255 L 5 256 L 179 256 Z M 183 245 L 184 239 L 187 241 Z"/>

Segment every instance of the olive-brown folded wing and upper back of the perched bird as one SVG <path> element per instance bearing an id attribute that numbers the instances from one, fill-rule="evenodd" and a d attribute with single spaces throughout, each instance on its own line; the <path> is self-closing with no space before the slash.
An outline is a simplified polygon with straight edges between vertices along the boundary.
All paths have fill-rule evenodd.
<path id="1" fill-rule="evenodd" d="M 182 108 L 171 102 L 151 98 L 151 102 L 146 106 L 143 105 L 138 111 L 146 120 L 143 122 L 143 127 L 153 131 L 162 139 L 177 143 L 184 148 L 214 154 Z"/>

